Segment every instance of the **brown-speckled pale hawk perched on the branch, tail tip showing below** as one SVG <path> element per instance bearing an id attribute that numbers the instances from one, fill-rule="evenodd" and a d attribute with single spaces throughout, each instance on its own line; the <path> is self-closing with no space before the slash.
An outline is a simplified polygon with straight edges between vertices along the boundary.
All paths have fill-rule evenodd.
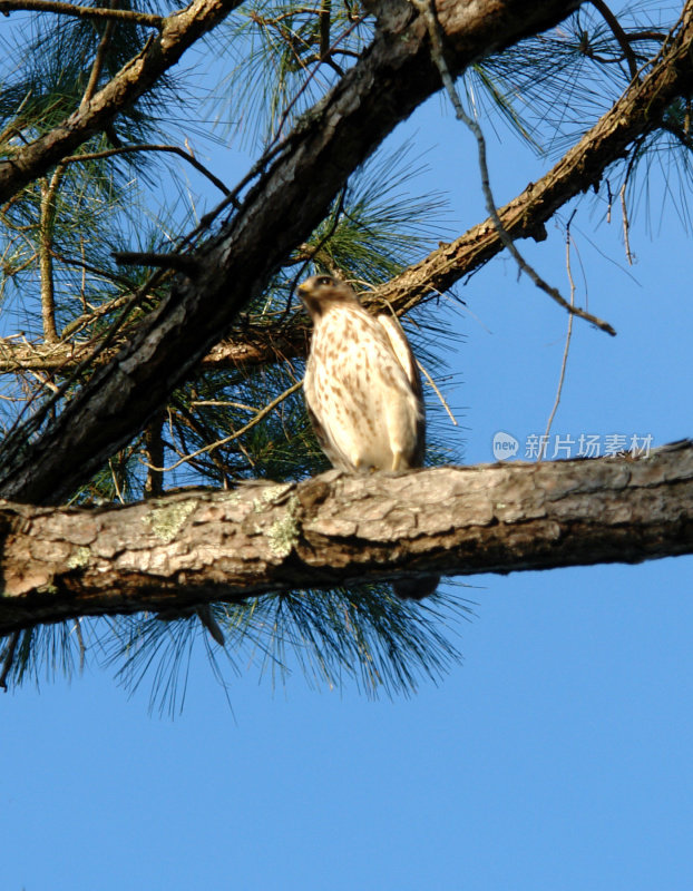
<path id="1" fill-rule="evenodd" d="M 303 390 L 332 467 L 350 473 L 423 464 L 426 418 L 416 359 L 397 319 L 372 315 L 345 282 L 313 275 L 299 286 L 313 320 Z M 400 579 L 400 597 L 432 594 L 439 578 Z"/>

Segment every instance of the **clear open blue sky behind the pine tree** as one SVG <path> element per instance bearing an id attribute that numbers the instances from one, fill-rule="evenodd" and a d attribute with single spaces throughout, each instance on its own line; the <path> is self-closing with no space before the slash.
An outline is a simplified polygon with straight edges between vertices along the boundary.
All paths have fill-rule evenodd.
<path id="1" fill-rule="evenodd" d="M 471 138 L 438 98 L 390 145 L 412 134 L 431 168 L 412 188 L 449 188 L 463 231 L 482 216 Z M 547 166 L 501 139 L 499 202 Z M 651 187 L 662 194 L 657 174 Z M 633 221 L 626 268 L 619 215 L 603 217 L 585 203 L 573 233 L 589 309 L 618 336 L 575 323 L 553 429 L 690 435 L 690 237 L 655 202 L 652 233 Z M 521 248 L 567 294 L 564 234 L 548 229 Z M 463 429 L 450 437 L 469 463 L 491 461 L 498 430 L 544 431 L 566 316 L 506 257 L 459 293 L 476 317 L 456 322 Z M 467 579 L 463 663 L 394 702 L 313 691 L 299 670 L 273 689 L 251 664 L 231 712 L 202 648 L 174 722 L 96 668 L 2 696 L 2 889 L 689 891 L 692 567 Z"/>

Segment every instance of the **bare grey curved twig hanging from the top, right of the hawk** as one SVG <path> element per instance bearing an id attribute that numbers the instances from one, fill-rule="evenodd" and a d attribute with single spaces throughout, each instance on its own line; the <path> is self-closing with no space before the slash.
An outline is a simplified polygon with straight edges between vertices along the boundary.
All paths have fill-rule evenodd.
<path id="1" fill-rule="evenodd" d="M 559 306 L 563 306 L 564 310 L 569 312 L 573 315 L 578 315 L 580 319 L 584 319 L 587 322 L 590 322 L 596 327 L 605 331 L 607 334 L 614 336 L 616 332 L 608 324 L 608 322 L 604 322 L 602 319 L 597 319 L 592 313 L 582 310 L 579 306 L 572 306 L 568 301 L 563 296 L 563 294 L 547 282 L 541 278 L 541 276 L 534 270 L 533 266 L 527 263 L 527 261 L 523 257 L 523 255 L 517 249 L 515 242 L 506 231 L 500 217 L 498 216 L 498 212 L 496 210 L 496 202 L 494 200 L 494 194 L 491 192 L 490 186 L 490 177 L 488 172 L 488 164 L 486 160 L 486 139 L 484 138 L 484 133 L 481 128 L 477 124 L 477 121 L 471 118 L 462 108 L 462 104 L 460 101 L 459 96 L 457 95 L 457 90 L 455 88 L 455 84 L 452 81 L 452 76 L 448 69 L 448 65 L 445 60 L 442 53 L 442 41 L 439 32 L 439 25 L 436 16 L 433 13 L 430 0 L 411 0 L 412 4 L 419 10 L 419 12 L 423 16 L 423 19 L 427 23 L 429 36 L 431 39 L 431 56 L 433 58 L 433 62 L 436 63 L 440 77 L 442 79 L 443 86 L 452 106 L 455 108 L 456 117 L 462 121 L 472 133 L 477 140 L 478 154 L 479 154 L 479 170 L 481 174 L 481 188 L 484 190 L 484 197 L 486 199 L 486 209 L 494 223 L 496 232 L 498 233 L 498 237 L 502 242 L 504 246 L 508 249 L 508 252 L 514 257 L 515 262 L 519 266 L 520 271 L 526 273 L 529 278 L 535 283 L 537 287 L 548 294 L 549 297 L 556 301 Z"/>

